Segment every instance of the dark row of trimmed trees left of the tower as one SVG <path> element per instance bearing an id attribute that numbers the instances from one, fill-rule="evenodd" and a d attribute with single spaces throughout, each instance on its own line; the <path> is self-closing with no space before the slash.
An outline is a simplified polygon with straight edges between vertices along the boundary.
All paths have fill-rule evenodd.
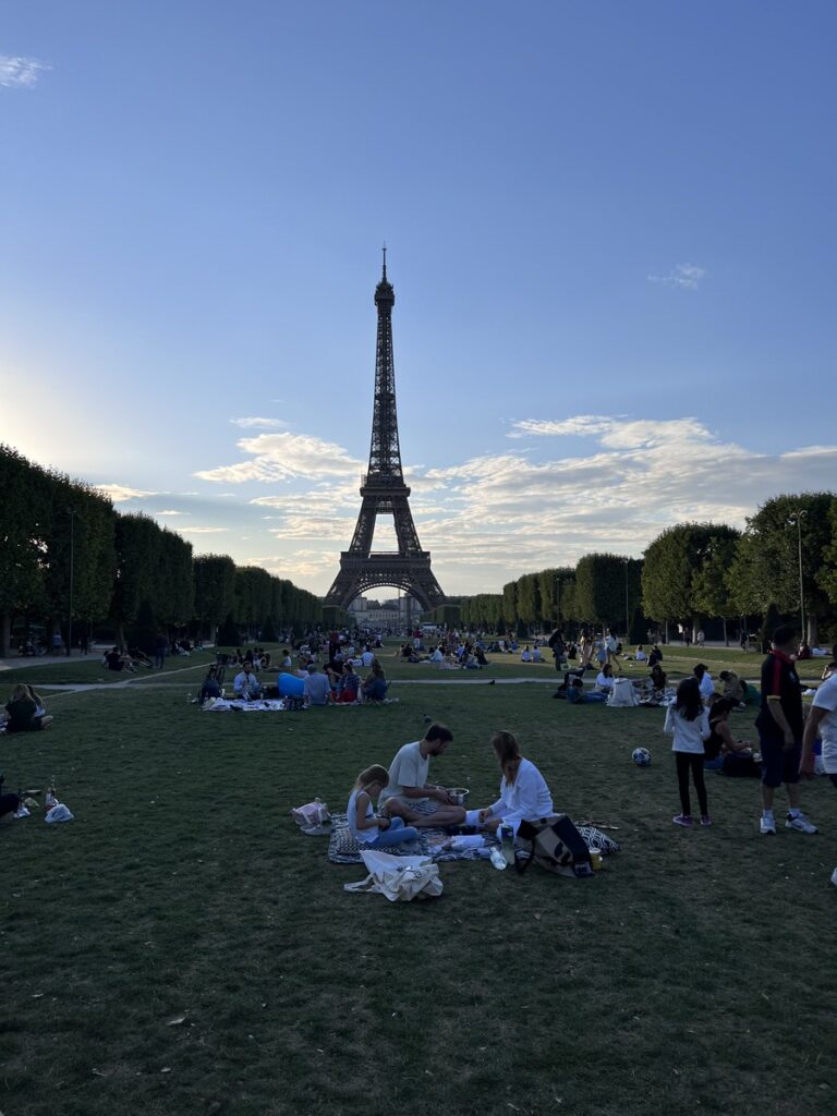
<path id="1" fill-rule="evenodd" d="M 0 654 L 12 626 L 68 620 L 89 629 L 109 622 L 124 642 L 161 628 L 192 626 L 215 638 L 319 623 L 312 593 L 227 555 L 194 557 L 180 535 L 143 514 L 122 514 L 102 492 L 32 464 L 0 445 Z"/>

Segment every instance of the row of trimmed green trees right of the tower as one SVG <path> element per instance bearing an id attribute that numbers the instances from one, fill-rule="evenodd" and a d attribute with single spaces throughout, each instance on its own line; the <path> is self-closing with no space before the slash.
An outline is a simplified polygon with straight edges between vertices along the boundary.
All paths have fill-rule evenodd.
<path id="1" fill-rule="evenodd" d="M 800 595 L 801 583 L 801 595 Z M 642 559 L 585 555 L 576 566 L 525 574 L 501 593 L 461 598 L 460 623 L 485 631 L 532 631 L 566 622 L 607 625 L 632 642 L 648 627 L 696 631 L 718 620 L 792 619 L 814 646 L 820 628 L 837 632 L 837 497 L 777 496 L 748 519 L 677 523 L 662 531 Z"/>

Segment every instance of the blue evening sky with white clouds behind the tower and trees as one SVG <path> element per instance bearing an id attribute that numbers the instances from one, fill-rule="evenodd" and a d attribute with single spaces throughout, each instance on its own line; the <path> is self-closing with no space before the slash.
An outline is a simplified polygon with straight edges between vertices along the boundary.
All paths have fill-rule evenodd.
<path id="1" fill-rule="evenodd" d="M 386 240 L 445 590 L 833 487 L 835 32 L 817 0 L 6 0 L 0 439 L 325 591 Z"/>

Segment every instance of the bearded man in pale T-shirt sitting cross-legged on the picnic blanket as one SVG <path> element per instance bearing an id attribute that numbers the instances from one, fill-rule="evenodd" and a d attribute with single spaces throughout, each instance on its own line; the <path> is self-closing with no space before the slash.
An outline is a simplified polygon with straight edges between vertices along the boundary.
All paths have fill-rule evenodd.
<path id="1" fill-rule="evenodd" d="M 427 782 L 431 758 L 444 756 L 453 733 L 444 724 L 431 724 L 423 740 L 404 744 L 389 764 L 389 781 L 381 792 L 378 806 L 393 818 L 411 826 L 456 826 L 465 820 L 465 810 L 454 806 L 444 787 Z M 433 814 L 415 809 L 430 799 L 439 802 Z"/>

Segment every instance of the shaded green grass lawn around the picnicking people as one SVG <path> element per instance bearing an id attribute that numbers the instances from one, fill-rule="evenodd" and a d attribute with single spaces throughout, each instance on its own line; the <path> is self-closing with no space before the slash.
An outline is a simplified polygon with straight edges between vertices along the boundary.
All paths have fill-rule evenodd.
<path id="1" fill-rule="evenodd" d="M 235 715 L 187 704 L 180 675 L 49 698 L 49 732 L 0 738 L 8 786 L 55 775 L 76 814 L 0 828 L 6 1116 L 834 1113 L 826 780 L 805 790 L 817 836 L 760 837 L 758 783 L 720 775 L 716 825 L 677 830 L 662 711 L 389 673 L 435 684 Z M 480 862 L 442 865 L 435 902 L 345 894 L 362 869 L 329 865 L 288 811 L 343 809 L 425 714 L 455 733 L 431 778 L 469 805 L 496 797 L 488 741 L 510 728 L 557 807 L 618 826 L 623 852 L 589 881 Z"/>

